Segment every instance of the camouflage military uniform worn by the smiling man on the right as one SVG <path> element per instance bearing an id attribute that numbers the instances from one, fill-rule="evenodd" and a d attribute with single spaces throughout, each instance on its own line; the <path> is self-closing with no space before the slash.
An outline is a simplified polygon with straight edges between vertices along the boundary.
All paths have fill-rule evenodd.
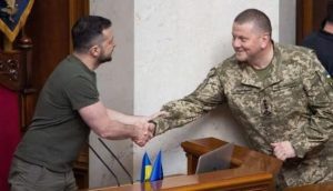
<path id="1" fill-rule="evenodd" d="M 210 70 L 194 92 L 163 105 L 169 114 L 154 120 L 155 133 L 226 102 L 253 149 L 272 155 L 270 143 L 292 143 L 296 158 L 282 168 L 287 185 L 332 181 L 333 90 L 324 68 L 310 49 L 278 43 L 271 64 L 261 81 L 246 63 L 226 59 Z"/>

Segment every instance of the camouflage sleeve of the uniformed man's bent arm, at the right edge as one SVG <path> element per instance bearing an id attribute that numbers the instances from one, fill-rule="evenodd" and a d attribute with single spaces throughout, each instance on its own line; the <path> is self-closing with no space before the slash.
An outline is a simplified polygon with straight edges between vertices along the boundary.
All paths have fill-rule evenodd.
<path id="1" fill-rule="evenodd" d="M 333 128 L 333 90 L 330 76 L 312 53 L 310 67 L 304 69 L 303 87 L 309 100 L 311 115 L 301 134 L 292 142 L 299 158 L 325 143 Z"/>

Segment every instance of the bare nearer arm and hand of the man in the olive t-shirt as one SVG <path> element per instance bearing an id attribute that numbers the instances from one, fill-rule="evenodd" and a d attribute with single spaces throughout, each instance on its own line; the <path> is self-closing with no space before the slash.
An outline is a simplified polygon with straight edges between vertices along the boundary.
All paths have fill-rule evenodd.
<path id="1" fill-rule="evenodd" d="M 111 140 L 130 138 L 141 147 L 152 138 L 153 125 L 151 123 L 133 121 L 132 124 L 125 124 L 110 119 L 107 108 L 100 101 L 81 108 L 79 113 L 91 130 L 102 138 Z"/>

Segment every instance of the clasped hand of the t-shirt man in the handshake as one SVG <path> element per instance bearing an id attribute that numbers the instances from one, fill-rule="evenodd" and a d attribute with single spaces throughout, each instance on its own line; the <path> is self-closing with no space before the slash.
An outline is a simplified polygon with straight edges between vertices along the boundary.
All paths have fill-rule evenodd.
<path id="1" fill-rule="evenodd" d="M 133 142 L 143 147 L 153 137 L 154 124 L 149 122 L 138 122 L 134 124 L 135 135 L 132 138 Z"/>

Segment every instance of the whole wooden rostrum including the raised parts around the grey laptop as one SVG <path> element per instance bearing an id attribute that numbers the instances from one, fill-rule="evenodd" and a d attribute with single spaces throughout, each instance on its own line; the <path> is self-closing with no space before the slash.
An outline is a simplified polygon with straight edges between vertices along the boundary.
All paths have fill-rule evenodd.
<path id="1" fill-rule="evenodd" d="M 164 178 L 161 181 L 134 183 L 122 187 L 91 189 L 90 191 L 135 191 L 135 190 L 274 190 L 274 177 L 282 161 L 246 148 L 235 145 L 231 169 L 194 174 L 201 154 L 226 142 L 215 138 L 204 138 L 182 142 L 188 157 L 188 174 Z"/>

